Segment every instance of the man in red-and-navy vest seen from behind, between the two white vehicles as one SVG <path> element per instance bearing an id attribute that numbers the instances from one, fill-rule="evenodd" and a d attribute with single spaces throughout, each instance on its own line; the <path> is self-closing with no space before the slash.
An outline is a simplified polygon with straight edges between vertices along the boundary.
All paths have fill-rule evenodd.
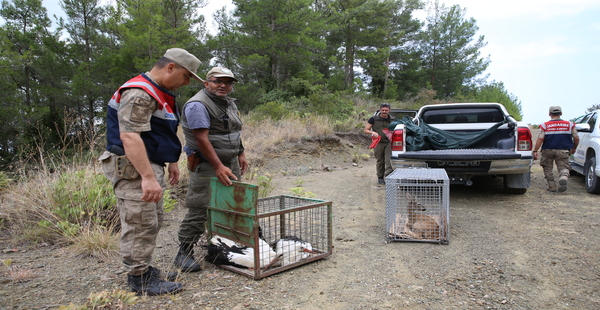
<path id="1" fill-rule="evenodd" d="M 533 148 L 533 159 L 538 159 L 538 150 L 542 147 L 540 166 L 544 168 L 544 177 L 548 182 L 549 192 L 564 192 L 567 190 L 569 179 L 569 155 L 574 154 L 579 144 L 579 134 L 575 124 L 562 120 L 562 109 L 559 106 L 550 107 L 550 120 L 540 125 L 538 139 Z M 552 172 L 553 163 L 558 169 L 558 188 Z"/>

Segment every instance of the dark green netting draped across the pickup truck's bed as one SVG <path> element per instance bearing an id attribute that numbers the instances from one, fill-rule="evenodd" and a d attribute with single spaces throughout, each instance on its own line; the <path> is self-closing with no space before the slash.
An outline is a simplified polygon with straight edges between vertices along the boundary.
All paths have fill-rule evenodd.
<path id="1" fill-rule="evenodd" d="M 396 125 L 404 124 L 406 130 L 404 143 L 407 151 L 462 149 L 468 148 L 491 135 L 507 121 L 503 120 L 486 130 L 474 132 L 453 132 L 438 129 L 425 123 L 421 118 L 418 118 L 418 123 L 415 124 L 409 116 L 405 116 L 402 119 L 393 121 L 388 129 L 393 131 Z"/>

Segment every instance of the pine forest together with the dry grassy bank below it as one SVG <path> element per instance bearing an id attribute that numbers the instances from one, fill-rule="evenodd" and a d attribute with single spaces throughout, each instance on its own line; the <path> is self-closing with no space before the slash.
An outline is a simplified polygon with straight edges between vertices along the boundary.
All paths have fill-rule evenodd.
<path id="1" fill-rule="evenodd" d="M 262 196 L 272 188 L 259 171 L 265 154 L 336 132 L 360 135 L 383 102 L 407 109 L 499 102 L 522 117 L 516 96 L 487 81 L 486 42 L 458 5 L 239 0 L 215 13 L 218 27 L 209 32 L 204 1 L 103 3 L 62 0 L 66 17 L 52 25 L 40 0 L 1 2 L 0 239 L 11 246 L 66 242 L 86 255 L 116 253 L 115 197 L 97 164 L 107 102 L 171 47 L 196 55 L 200 76 L 213 66 L 235 73 L 232 96 L 254 167 L 244 180 L 260 185 Z M 200 87 L 180 88 L 178 105 Z M 166 211 L 187 187 L 185 160 L 179 165 L 180 182 L 164 194 Z M 292 192 L 308 195 L 300 186 Z"/>

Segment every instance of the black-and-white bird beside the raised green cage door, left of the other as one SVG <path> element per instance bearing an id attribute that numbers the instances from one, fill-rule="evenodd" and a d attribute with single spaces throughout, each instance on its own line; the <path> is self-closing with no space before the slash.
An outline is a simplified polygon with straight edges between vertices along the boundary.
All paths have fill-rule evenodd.
<path id="1" fill-rule="evenodd" d="M 254 268 L 254 248 L 241 245 L 225 237 L 214 236 L 206 246 L 207 254 L 204 257 L 209 263 L 215 265 L 230 265 L 242 268 Z M 258 238 L 258 251 L 260 267 L 270 265 L 277 253 L 262 238 Z"/>

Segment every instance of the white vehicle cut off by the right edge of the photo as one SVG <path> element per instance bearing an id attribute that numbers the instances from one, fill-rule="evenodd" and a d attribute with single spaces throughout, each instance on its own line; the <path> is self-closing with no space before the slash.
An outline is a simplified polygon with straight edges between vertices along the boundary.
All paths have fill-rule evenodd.
<path id="1" fill-rule="evenodd" d="M 571 156 L 571 169 L 585 177 L 585 189 L 600 194 L 600 110 L 589 112 L 573 120 L 579 132 L 579 145 Z"/>

